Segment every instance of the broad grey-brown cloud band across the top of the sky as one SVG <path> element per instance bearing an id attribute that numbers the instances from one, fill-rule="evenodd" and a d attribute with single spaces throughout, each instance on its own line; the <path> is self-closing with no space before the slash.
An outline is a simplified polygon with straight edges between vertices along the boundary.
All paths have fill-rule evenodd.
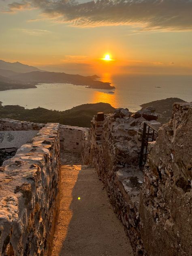
<path id="1" fill-rule="evenodd" d="M 9 11 L 38 8 L 47 18 L 72 26 L 131 25 L 141 30 L 192 30 L 192 0 L 23 0 Z"/>

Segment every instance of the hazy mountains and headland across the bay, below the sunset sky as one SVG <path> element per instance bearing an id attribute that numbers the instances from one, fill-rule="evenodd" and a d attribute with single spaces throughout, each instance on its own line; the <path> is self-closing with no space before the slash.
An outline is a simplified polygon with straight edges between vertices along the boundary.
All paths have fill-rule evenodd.
<path id="1" fill-rule="evenodd" d="M 106 90 L 115 88 L 111 83 L 98 81 L 98 78 L 97 75 L 85 77 L 82 75 L 47 72 L 19 62 L 9 63 L 0 60 L 0 91 L 36 88 L 36 85 L 39 83 L 70 83 L 73 85 L 83 85 L 87 88 Z"/>

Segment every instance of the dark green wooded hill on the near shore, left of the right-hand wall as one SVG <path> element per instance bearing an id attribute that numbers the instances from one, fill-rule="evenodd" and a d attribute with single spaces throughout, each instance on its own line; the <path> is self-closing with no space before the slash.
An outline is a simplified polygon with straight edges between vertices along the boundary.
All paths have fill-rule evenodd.
<path id="1" fill-rule="evenodd" d="M 105 114 L 113 113 L 113 108 L 108 103 L 83 104 L 66 111 L 48 110 L 41 107 L 36 109 L 25 109 L 20 106 L 1 106 L 0 117 L 11 118 L 20 121 L 36 123 L 60 123 L 70 126 L 90 127 L 93 115 L 97 112 Z"/>

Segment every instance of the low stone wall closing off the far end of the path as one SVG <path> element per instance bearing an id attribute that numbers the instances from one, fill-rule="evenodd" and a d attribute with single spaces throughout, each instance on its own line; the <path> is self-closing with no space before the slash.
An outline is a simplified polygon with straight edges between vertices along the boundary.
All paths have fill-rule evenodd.
<path id="1" fill-rule="evenodd" d="M 60 149 L 81 153 L 82 139 L 88 128 L 60 124 Z"/>

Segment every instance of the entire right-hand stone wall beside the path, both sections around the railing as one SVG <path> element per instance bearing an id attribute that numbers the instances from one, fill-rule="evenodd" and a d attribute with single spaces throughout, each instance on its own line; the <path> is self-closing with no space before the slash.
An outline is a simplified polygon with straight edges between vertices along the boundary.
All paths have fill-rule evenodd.
<path id="1" fill-rule="evenodd" d="M 175 104 L 173 118 L 150 143 L 139 169 L 143 122 L 154 110 L 117 109 L 94 117 L 83 138 L 83 160 L 96 167 L 137 256 L 192 252 L 192 103 Z M 100 115 L 100 114 L 99 114 Z M 144 176 L 144 177 L 143 177 Z"/>

